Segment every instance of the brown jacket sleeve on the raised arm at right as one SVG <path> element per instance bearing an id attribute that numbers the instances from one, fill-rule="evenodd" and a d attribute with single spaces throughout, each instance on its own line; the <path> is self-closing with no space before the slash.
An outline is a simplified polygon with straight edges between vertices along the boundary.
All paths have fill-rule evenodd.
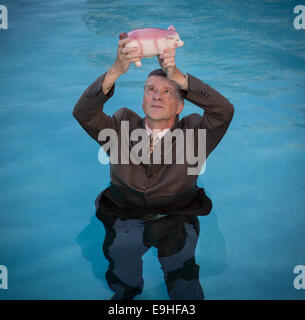
<path id="1" fill-rule="evenodd" d="M 233 118 L 234 107 L 228 99 L 201 80 L 188 74 L 188 90 L 184 98 L 204 110 L 194 117 L 194 129 L 206 129 L 206 157 L 215 149 Z"/>

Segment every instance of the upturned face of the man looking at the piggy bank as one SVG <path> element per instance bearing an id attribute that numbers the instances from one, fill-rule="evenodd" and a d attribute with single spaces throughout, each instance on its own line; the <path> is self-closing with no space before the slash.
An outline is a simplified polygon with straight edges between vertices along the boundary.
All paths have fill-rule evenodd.
<path id="1" fill-rule="evenodd" d="M 142 107 L 149 120 L 168 123 L 171 127 L 183 106 L 177 87 L 170 80 L 162 76 L 150 76 L 146 80 Z"/>

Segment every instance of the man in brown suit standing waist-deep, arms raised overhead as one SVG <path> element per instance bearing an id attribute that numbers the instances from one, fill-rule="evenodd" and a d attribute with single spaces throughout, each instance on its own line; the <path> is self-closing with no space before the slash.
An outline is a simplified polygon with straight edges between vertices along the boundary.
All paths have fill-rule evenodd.
<path id="1" fill-rule="evenodd" d="M 128 138 L 132 136 L 134 130 L 143 129 L 146 130 L 147 137 L 150 137 L 147 140 L 150 141 L 148 146 L 150 159 L 153 158 L 154 148 L 158 145 L 163 147 L 161 161 L 158 163 L 153 161 L 111 163 L 110 161 L 110 186 L 96 199 L 97 217 L 104 223 L 106 229 L 104 253 L 110 262 L 106 278 L 109 286 L 115 291 L 114 299 L 132 299 L 142 291 L 143 287 L 141 256 L 149 246 L 154 245 L 159 250 L 158 256 L 170 298 L 202 299 L 203 292 L 198 282 L 199 268 L 194 259 L 199 235 L 197 216 L 208 214 L 212 202 L 206 196 L 204 189 L 197 186 L 198 174 L 189 174 L 188 169 L 192 165 L 187 161 L 175 161 L 177 160 L 175 152 L 173 152 L 173 163 L 168 164 L 164 161 L 164 154 L 168 148 L 164 141 L 168 136 L 172 137 L 170 148 L 173 151 L 180 148 L 181 151 L 180 142 L 175 135 L 171 136 L 171 133 L 179 129 L 185 134 L 187 129 L 192 129 L 195 139 L 192 144 L 195 149 L 193 151 L 198 153 L 202 150 L 198 148 L 198 141 L 201 141 L 198 140 L 198 134 L 205 130 L 204 151 L 207 158 L 227 131 L 234 109 L 232 104 L 215 89 L 190 74 L 182 73 L 176 67 L 175 49 L 167 49 L 158 56 L 162 69 L 152 71 L 145 82 L 142 104 L 145 117 L 141 118 L 127 108 L 119 109 L 113 116 L 105 114 L 103 105 L 114 94 L 115 81 L 127 72 L 132 62 L 142 59 L 139 48 L 125 47 L 128 41 L 128 38 L 119 41 L 114 64 L 87 88 L 73 110 L 73 115 L 81 126 L 102 146 L 106 143 L 100 139 L 103 129 L 112 129 L 117 133 L 119 146 L 124 143 L 126 136 Z M 203 109 L 203 116 L 191 114 L 179 120 L 184 99 Z M 124 134 L 122 134 L 123 123 L 128 123 L 128 131 L 125 130 Z M 128 143 L 127 148 L 120 149 L 121 153 L 122 150 L 125 150 L 123 151 L 125 153 L 126 150 L 127 153 L 131 152 L 135 141 L 128 139 Z M 124 156 L 121 153 L 119 151 L 120 158 Z M 164 222 L 161 228 L 163 238 L 160 229 L 156 227 L 156 223 L 160 221 Z M 193 228 L 186 227 L 187 224 Z M 132 230 L 137 232 L 130 232 Z M 129 233 L 127 242 L 123 240 L 126 233 Z M 145 234 L 150 235 L 149 241 L 143 240 L 142 235 Z M 169 234 L 172 236 L 169 237 Z M 166 244 L 169 248 L 175 248 L 176 239 L 182 234 L 184 234 L 183 239 L 191 238 L 192 249 L 187 253 L 182 250 L 184 254 L 181 256 L 178 254 L 181 251 L 179 245 L 179 248 L 166 253 L 168 250 L 163 250 Z M 135 244 L 139 235 L 144 243 L 144 246 L 141 244 L 141 250 L 139 245 Z M 132 247 L 129 246 L 127 249 L 128 244 Z M 130 259 L 126 256 L 126 252 Z M 169 257 L 174 257 L 177 269 L 172 268 L 172 262 L 169 263 L 166 259 Z M 115 260 L 120 260 L 120 265 L 115 266 Z M 177 272 L 178 269 L 181 272 Z M 173 274 L 176 275 L 174 280 Z"/>

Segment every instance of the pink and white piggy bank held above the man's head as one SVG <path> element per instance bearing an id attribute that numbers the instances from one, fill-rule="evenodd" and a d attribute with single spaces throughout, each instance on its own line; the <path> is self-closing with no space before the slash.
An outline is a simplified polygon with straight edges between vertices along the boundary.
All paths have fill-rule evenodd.
<path id="1" fill-rule="evenodd" d="M 125 47 L 139 47 L 144 58 L 151 58 L 163 52 L 166 48 L 177 48 L 183 46 L 183 41 L 179 38 L 174 26 L 169 26 L 167 30 L 158 28 L 144 28 L 121 33 L 120 39 L 130 38 L 132 41 Z M 141 61 L 136 61 L 135 65 L 140 67 Z"/>

